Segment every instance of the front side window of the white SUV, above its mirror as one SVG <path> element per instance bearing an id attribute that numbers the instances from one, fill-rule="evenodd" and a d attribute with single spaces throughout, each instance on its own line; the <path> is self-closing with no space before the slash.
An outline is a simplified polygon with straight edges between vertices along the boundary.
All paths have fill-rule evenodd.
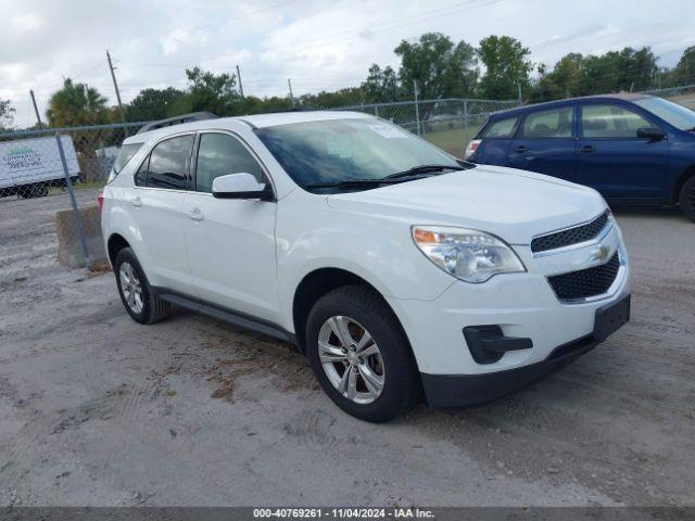
<path id="1" fill-rule="evenodd" d="M 203 134 L 198 148 L 195 190 L 212 192 L 213 180 L 228 174 L 247 173 L 266 182 L 258 162 L 241 142 L 226 134 Z"/>

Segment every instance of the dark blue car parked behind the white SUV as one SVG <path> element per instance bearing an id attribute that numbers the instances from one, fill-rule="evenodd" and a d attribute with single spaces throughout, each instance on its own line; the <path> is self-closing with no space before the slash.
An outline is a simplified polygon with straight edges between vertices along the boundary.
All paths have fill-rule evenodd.
<path id="1" fill-rule="evenodd" d="M 662 98 L 592 96 L 496 112 L 466 160 L 586 185 L 616 205 L 679 205 L 695 220 L 695 112 Z"/>

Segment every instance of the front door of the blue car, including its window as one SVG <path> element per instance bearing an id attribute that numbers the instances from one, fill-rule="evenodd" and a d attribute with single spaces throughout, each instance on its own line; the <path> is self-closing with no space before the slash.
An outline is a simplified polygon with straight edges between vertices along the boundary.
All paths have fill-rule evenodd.
<path id="1" fill-rule="evenodd" d="M 622 103 L 586 102 L 580 113 L 578 181 L 614 201 L 662 199 L 668 140 L 637 138 L 658 125 Z"/>

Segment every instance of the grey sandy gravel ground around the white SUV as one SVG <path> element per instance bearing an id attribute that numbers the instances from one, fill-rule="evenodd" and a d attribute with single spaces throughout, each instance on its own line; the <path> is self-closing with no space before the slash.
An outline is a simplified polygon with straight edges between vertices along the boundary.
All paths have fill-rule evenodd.
<path id="1" fill-rule="evenodd" d="M 78 194 L 83 203 L 93 191 Z M 287 344 L 55 263 L 64 195 L 0 200 L 0 505 L 695 505 L 695 225 L 619 212 L 633 319 L 492 405 L 342 414 Z"/>

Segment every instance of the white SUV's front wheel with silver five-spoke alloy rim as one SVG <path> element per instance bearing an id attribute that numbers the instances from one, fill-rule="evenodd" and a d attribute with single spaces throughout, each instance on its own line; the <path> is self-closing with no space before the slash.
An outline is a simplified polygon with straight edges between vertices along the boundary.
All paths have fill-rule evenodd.
<path id="1" fill-rule="evenodd" d="M 417 398 L 419 379 L 393 312 L 366 285 L 348 285 L 314 305 L 307 354 L 321 387 L 345 412 L 383 422 Z"/>

